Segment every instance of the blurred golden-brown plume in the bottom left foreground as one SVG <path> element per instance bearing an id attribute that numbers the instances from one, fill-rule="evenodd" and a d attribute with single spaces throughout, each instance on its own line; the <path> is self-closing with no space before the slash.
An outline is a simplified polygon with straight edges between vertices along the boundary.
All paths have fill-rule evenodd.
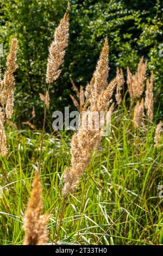
<path id="1" fill-rule="evenodd" d="M 24 214 L 23 228 L 26 232 L 24 245 L 46 245 L 48 240 L 46 231 L 48 216 L 41 215 L 42 209 L 42 186 L 39 173 L 36 172 L 33 180 L 33 190 Z"/>

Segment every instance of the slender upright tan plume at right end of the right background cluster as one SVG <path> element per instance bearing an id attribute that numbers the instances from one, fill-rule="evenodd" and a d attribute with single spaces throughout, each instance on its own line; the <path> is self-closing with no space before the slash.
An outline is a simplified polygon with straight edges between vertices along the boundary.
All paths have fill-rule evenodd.
<path id="1" fill-rule="evenodd" d="M 153 120 L 153 71 L 151 72 L 150 83 L 147 80 L 146 88 L 146 98 L 145 98 L 145 108 L 147 110 L 147 118 L 149 121 Z"/>

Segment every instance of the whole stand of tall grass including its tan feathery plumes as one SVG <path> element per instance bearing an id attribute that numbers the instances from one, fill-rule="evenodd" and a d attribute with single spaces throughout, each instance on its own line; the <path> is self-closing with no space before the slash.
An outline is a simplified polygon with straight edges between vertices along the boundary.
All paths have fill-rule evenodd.
<path id="1" fill-rule="evenodd" d="M 130 112 L 126 107 L 126 94 L 123 100 L 121 97 L 123 77 L 117 76 L 108 84 L 107 38 L 92 79 L 86 86 L 85 102 L 83 87 L 77 92 L 80 106 L 71 95 L 79 111 L 84 109 L 99 114 L 108 111 L 117 84 L 115 97 L 121 106 L 116 106 L 112 114 L 110 136 L 103 137 L 101 141 L 101 128 L 90 130 L 87 125 L 86 130 L 79 127 L 74 136 L 72 131 L 49 129 L 49 133 L 45 132 L 46 125 L 51 126 L 46 115 L 50 83 L 60 76 L 60 65 L 64 62 L 68 45 L 69 7 L 68 3 L 49 47 L 46 72 L 48 90 L 45 95 L 40 94 L 45 107 L 42 131 L 34 126 L 34 107 L 30 118 L 33 124 L 29 121 L 22 123 L 29 125 L 33 131 L 17 130 L 16 126 L 14 130 L 9 126 L 13 126 L 9 120 L 8 126 L 5 124 L 6 118 L 11 118 L 13 112 L 13 74 L 17 68 L 17 39 L 11 43 L 7 70 L 1 81 L 0 100 L 1 244 L 45 245 L 49 217 L 49 245 L 160 245 L 163 243 L 163 199 L 158 190 L 163 182 L 161 137 L 159 142 L 161 123 L 157 129 L 156 124 L 152 123 L 153 73 L 150 82 L 147 80 L 145 107 L 148 120 L 145 119 L 141 96 L 145 87 L 147 61 L 144 63 L 143 57 L 134 75 L 128 68 Z M 111 105 L 110 109 L 113 107 Z M 42 214 L 46 217 L 43 218 Z"/>

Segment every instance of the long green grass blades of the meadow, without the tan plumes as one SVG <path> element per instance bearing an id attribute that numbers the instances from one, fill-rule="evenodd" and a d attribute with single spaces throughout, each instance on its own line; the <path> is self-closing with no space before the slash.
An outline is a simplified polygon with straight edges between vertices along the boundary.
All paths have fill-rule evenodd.
<path id="1" fill-rule="evenodd" d="M 162 142 L 154 148 L 155 124 L 135 131 L 123 107 L 112 114 L 111 134 L 103 137 L 78 189 L 68 196 L 58 244 L 158 245 L 163 243 Z M 147 122 L 146 120 L 144 120 Z M 71 131 L 43 136 L 41 180 L 49 240 L 54 244 L 61 210 L 65 166 L 70 166 Z M 21 245 L 23 215 L 40 156 L 41 131 L 7 131 L 9 154 L 1 156 L 0 243 Z"/>

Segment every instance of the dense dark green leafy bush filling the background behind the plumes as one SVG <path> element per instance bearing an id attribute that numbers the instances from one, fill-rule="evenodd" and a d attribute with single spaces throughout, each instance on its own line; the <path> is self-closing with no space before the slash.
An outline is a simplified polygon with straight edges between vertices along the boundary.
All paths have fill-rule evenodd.
<path id="1" fill-rule="evenodd" d="M 32 105 L 37 118 L 43 112 L 39 92 L 44 92 L 46 59 L 55 26 L 64 15 L 64 0 L 6 0 L 1 3 L 1 38 L 5 56 L 9 41 L 17 34 L 19 41 L 16 74 L 16 118 L 29 118 Z M 162 40 L 163 4 L 143 1 L 70 1 L 70 44 L 59 80 L 51 87 L 51 109 L 70 105 L 71 75 L 77 85 L 90 80 L 105 36 L 110 44 L 110 77 L 116 66 L 135 71 L 140 57 L 148 59 L 148 74 L 155 74 L 155 109 L 162 106 L 163 57 L 159 58 Z M 63 104 L 64 102 L 64 104 Z M 161 107 L 159 109 L 160 113 Z M 40 113 L 40 114 L 39 114 Z"/>

